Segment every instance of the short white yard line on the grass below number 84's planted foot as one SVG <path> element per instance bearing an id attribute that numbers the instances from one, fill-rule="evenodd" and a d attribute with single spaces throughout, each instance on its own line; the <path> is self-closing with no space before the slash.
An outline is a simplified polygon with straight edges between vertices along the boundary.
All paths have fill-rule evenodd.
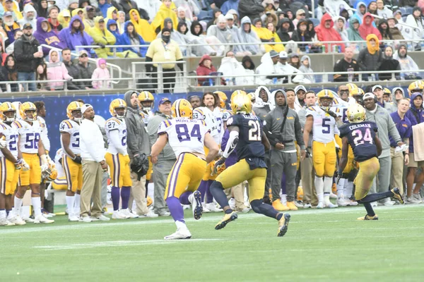
<path id="1" fill-rule="evenodd" d="M 34 249 L 42 250 L 75 250 L 75 249 L 90 249 L 95 247 L 121 247 L 126 245 L 167 245 L 167 244 L 179 244 L 179 243 L 196 243 L 205 241 L 218 241 L 222 239 L 188 239 L 188 240 L 120 240 L 120 241 L 106 241 L 106 242 L 92 242 L 92 243 L 80 243 L 80 244 L 69 244 L 69 245 L 45 245 L 35 246 Z"/>

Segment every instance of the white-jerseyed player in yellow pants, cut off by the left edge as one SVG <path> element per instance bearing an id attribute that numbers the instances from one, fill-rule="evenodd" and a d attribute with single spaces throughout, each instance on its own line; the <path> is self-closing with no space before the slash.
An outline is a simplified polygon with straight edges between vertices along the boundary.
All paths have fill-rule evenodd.
<path id="1" fill-rule="evenodd" d="M 13 192 L 16 190 L 21 169 L 29 166 L 18 158 L 18 130 L 12 125 L 16 120 L 16 109 L 10 102 L 0 106 L 0 226 L 24 225 L 20 216 L 13 216 Z M 8 213 L 8 218 L 6 218 Z"/>

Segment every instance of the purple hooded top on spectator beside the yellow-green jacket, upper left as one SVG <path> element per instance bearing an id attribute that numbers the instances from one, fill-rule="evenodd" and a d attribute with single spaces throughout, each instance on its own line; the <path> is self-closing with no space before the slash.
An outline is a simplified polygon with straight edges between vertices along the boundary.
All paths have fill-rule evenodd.
<path id="1" fill-rule="evenodd" d="M 72 30 L 72 24 L 75 20 L 79 20 L 81 22 L 78 30 Z M 69 27 L 65 27 L 63 30 L 59 32 L 59 39 L 66 44 L 66 46 L 71 50 L 76 50 L 76 46 L 88 46 L 93 44 L 93 38 L 90 37 L 84 31 L 84 24 L 81 20 L 80 16 L 73 16 L 71 18 L 71 22 L 69 23 Z M 86 48 L 86 51 L 90 51 L 89 48 Z"/>

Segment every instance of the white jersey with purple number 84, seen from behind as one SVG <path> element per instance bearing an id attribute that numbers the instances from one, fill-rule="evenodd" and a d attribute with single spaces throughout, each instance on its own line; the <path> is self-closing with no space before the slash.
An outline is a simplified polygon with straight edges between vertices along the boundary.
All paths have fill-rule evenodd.
<path id="1" fill-rule="evenodd" d="M 176 157 L 184 152 L 205 154 L 204 140 L 208 132 L 204 121 L 189 118 L 166 120 L 158 128 L 158 135 L 167 133 Z"/>

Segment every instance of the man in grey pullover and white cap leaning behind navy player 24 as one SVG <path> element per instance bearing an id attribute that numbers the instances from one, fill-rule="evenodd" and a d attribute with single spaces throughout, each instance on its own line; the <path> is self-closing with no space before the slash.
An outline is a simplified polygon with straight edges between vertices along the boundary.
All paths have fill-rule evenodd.
<path id="1" fill-rule="evenodd" d="M 376 182 L 372 183 L 370 192 L 386 192 L 390 189 L 389 185 L 391 171 L 389 135 L 393 138 L 394 142 L 396 142 L 398 146 L 404 145 L 404 142 L 401 140 L 401 135 L 399 135 L 396 125 L 391 119 L 389 111 L 377 104 L 377 97 L 375 97 L 375 94 L 370 92 L 365 93 L 363 100 L 365 110 L 367 111 L 366 120 L 377 123 L 377 137 L 382 143 L 382 154 L 380 154 L 378 157 L 380 165 L 380 169 L 377 174 L 378 185 L 376 188 Z M 384 200 L 384 204 L 391 205 L 392 203 L 389 202 L 389 199 L 387 199 Z"/>

